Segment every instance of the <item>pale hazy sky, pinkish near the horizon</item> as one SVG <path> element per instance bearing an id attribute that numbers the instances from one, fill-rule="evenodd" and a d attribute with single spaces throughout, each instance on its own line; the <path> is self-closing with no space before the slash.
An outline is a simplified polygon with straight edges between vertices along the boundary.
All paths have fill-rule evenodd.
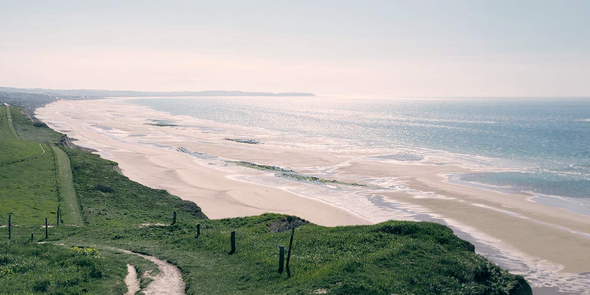
<path id="1" fill-rule="evenodd" d="M 590 97 L 590 1 L 6 1 L 0 86 Z"/>

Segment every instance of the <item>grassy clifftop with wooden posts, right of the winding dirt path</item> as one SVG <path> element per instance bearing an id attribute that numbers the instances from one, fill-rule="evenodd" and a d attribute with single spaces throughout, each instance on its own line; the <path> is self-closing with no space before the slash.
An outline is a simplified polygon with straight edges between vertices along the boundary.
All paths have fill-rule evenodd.
<path id="1" fill-rule="evenodd" d="M 64 240 L 127 247 L 171 261 L 184 274 L 187 294 L 530 294 L 522 277 L 475 254 L 448 228 L 427 222 L 300 225 L 288 277 L 277 272 L 278 245 L 289 244 L 290 232 L 273 231 L 277 223 L 288 227 L 289 221 L 265 214 L 124 230 L 87 227 L 87 234 Z M 237 251 L 228 255 L 232 230 Z"/>

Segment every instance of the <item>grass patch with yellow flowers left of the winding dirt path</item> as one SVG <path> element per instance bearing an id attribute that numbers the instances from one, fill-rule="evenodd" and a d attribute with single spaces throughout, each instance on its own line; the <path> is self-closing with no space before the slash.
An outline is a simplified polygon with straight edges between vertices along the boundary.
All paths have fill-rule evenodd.
<path id="1" fill-rule="evenodd" d="M 127 287 L 121 277 L 126 276 L 127 268 L 121 267 L 122 261 L 132 263 L 140 273 L 157 273 L 149 261 L 113 250 L 3 240 L 0 293 L 123 294 Z"/>

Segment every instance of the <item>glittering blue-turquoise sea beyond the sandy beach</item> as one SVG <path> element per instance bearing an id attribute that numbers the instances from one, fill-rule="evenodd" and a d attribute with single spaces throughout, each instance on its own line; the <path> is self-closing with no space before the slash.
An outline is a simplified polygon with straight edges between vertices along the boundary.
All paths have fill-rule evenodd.
<path id="1" fill-rule="evenodd" d="M 406 151 L 398 155 L 400 160 L 444 153 L 489 170 L 459 175 L 461 181 L 590 199 L 590 98 L 198 97 L 130 101 L 215 122 L 346 139 L 347 144 L 359 148 L 399 148 Z"/>

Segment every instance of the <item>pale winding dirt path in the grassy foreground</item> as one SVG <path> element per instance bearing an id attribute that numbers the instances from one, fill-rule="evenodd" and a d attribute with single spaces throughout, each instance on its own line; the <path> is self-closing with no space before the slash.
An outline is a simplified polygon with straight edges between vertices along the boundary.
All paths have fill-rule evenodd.
<path id="1" fill-rule="evenodd" d="M 135 252 L 132 252 L 129 250 L 122 250 L 122 249 L 117 249 L 117 250 L 121 251 L 123 253 L 126 253 L 126 254 L 137 255 L 139 257 L 142 257 L 144 259 L 152 261 L 153 263 L 155 263 L 158 266 L 160 272 L 156 275 L 156 277 L 154 278 L 152 283 L 150 283 L 148 285 L 148 287 L 146 287 L 146 289 L 143 290 L 143 294 L 146 294 L 146 295 L 183 295 L 184 294 L 185 283 L 182 280 L 182 273 L 178 269 L 178 267 L 176 267 L 173 264 L 170 264 L 164 260 L 160 260 L 160 259 L 150 256 L 150 255 L 139 254 L 139 253 L 135 253 Z M 135 268 L 133 266 L 131 266 L 131 267 L 133 268 L 133 271 L 135 272 Z M 127 265 L 127 269 L 129 270 L 129 265 Z M 127 274 L 127 277 L 129 277 L 129 276 L 130 276 L 130 274 Z M 135 274 L 135 278 L 137 279 L 137 274 Z M 125 279 L 125 283 L 127 283 L 127 278 Z M 127 288 L 130 289 L 129 284 L 127 284 Z M 129 294 L 129 293 L 127 293 L 127 294 Z"/>

